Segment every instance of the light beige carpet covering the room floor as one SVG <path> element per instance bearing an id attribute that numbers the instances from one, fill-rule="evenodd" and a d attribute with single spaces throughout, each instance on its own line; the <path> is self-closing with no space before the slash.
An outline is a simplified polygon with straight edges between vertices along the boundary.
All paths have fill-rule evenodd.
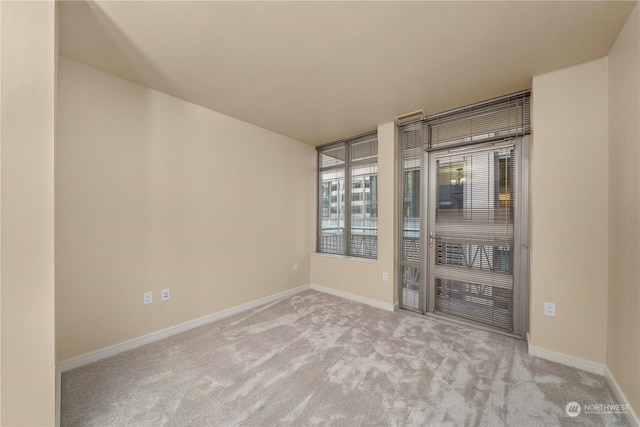
<path id="1" fill-rule="evenodd" d="M 62 375 L 63 426 L 627 425 L 526 343 L 306 291 Z"/>

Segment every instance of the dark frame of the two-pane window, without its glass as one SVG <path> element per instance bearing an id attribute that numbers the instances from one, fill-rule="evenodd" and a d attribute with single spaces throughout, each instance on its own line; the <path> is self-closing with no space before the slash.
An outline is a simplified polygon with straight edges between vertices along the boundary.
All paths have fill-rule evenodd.
<path id="1" fill-rule="evenodd" d="M 363 142 L 367 142 L 367 141 L 373 141 L 373 143 L 375 144 L 375 154 L 373 155 L 369 155 L 367 157 L 364 158 L 358 158 L 356 160 L 353 160 L 353 150 L 352 150 L 352 146 L 359 144 L 359 143 L 363 143 Z M 331 151 L 331 150 L 336 150 L 336 149 L 340 149 L 340 148 L 344 148 L 344 162 L 342 164 L 340 164 L 338 162 L 338 164 L 329 164 L 327 166 L 322 166 L 322 155 L 323 152 L 327 152 L 327 151 Z M 356 179 L 360 179 L 362 181 L 361 183 L 361 187 L 354 189 L 352 188 L 352 183 L 353 183 L 353 177 L 352 175 L 352 171 L 353 169 L 356 169 L 358 167 L 362 167 L 362 166 L 375 166 L 376 171 L 375 171 L 375 176 L 377 177 L 378 175 L 378 171 L 377 171 L 377 167 L 378 167 L 378 132 L 377 130 L 373 131 L 373 132 L 368 132 L 362 135 L 358 135 L 356 137 L 353 138 L 348 138 L 348 139 L 344 139 L 341 141 L 337 141 L 337 142 L 332 142 L 330 144 L 325 144 L 322 146 L 317 147 L 317 185 L 316 185 L 316 189 L 317 189 L 317 197 L 316 197 L 316 201 L 318 203 L 318 209 L 317 209 L 317 232 L 316 232 L 316 253 L 319 254 L 326 254 L 326 255 L 337 255 L 337 256 L 345 256 L 345 257 L 356 257 L 356 258 L 364 258 L 364 259 L 371 259 L 371 260 L 376 260 L 378 257 L 378 206 L 377 206 L 377 202 L 378 202 L 378 195 L 376 194 L 375 197 L 371 197 L 371 192 L 375 191 L 377 193 L 378 190 L 378 186 L 367 186 L 365 188 L 365 181 L 367 181 L 367 179 L 365 177 L 361 177 L 361 178 L 356 178 Z M 342 233 L 339 234 L 342 238 L 342 242 L 341 245 L 338 244 L 337 247 L 342 247 L 342 252 L 340 252 L 339 250 L 337 251 L 329 251 L 326 249 L 326 247 L 323 248 L 323 206 L 322 206 L 322 202 L 323 202 L 323 194 L 322 194 L 322 189 L 323 189 L 323 173 L 325 172 L 331 172 L 334 171 L 337 174 L 342 173 L 344 178 L 343 178 L 343 187 L 344 190 L 341 192 L 342 196 L 338 196 L 336 195 L 336 197 L 339 199 L 338 200 L 338 207 L 342 209 L 343 212 L 343 225 L 342 227 L 339 227 L 340 225 L 340 209 L 338 209 L 338 214 L 337 214 L 337 221 L 338 221 L 338 228 L 342 228 Z M 372 175 L 370 175 L 372 176 Z M 340 178 L 338 178 L 339 180 Z M 333 197 L 332 195 L 332 188 L 333 186 L 333 182 L 331 184 L 328 185 L 329 187 L 329 212 L 331 212 L 332 209 L 332 203 L 331 203 L 331 198 Z M 340 193 L 340 185 L 337 185 L 338 187 L 338 193 Z M 375 188 L 370 188 L 370 187 L 375 187 Z M 358 190 L 356 192 L 354 192 L 354 190 Z M 369 198 L 370 200 L 364 200 L 365 199 L 365 192 L 368 192 L 370 194 Z M 353 210 L 353 202 L 355 201 L 353 199 L 353 195 L 354 194 L 361 194 L 362 200 L 360 200 L 360 209 L 361 212 L 359 213 L 359 215 L 373 215 L 373 213 L 375 212 L 375 227 L 372 228 L 373 233 L 369 236 L 375 236 L 375 239 L 371 239 L 369 243 L 374 242 L 374 246 L 373 249 L 370 249 L 369 253 L 357 253 L 353 250 L 353 243 L 352 243 L 352 235 L 354 235 L 352 233 L 352 210 Z M 356 201 L 357 202 L 357 201 Z M 375 206 L 374 206 L 375 204 Z M 343 205 L 343 206 L 340 206 Z M 370 206 L 370 210 L 366 209 L 366 206 Z M 333 214 L 330 214 L 329 217 L 327 217 L 329 219 L 333 218 Z M 364 236 L 364 235 L 363 235 Z M 364 245 L 364 237 L 363 237 L 363 245 Z M 367 252 L 364 249 L 362 250 L 362 252 Z"/>

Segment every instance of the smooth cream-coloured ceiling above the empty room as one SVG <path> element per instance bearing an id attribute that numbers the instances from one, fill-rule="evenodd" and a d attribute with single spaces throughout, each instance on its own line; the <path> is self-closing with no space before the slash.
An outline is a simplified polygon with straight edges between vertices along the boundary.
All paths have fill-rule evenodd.
<path id="1" fill-rule="evenodd" d="M 635 4 L 59 2 L 60 54 L 318 145 L 602 57 Z"/>

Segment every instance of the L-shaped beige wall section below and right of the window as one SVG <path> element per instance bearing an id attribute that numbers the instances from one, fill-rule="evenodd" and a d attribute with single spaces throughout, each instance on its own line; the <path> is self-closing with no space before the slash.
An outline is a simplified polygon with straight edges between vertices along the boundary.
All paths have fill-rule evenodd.
<path id="1" fill-rule="evenodd" d="M 396 130 L 394 123 L 378 127 L 378 259 L 362 260 L 311 254 L 311 283 L 385 304 L 395 296 Z M 312 213 L 314 217 L 317 213 Z M 389 280 L 382 280 L 382 273 Z"/>

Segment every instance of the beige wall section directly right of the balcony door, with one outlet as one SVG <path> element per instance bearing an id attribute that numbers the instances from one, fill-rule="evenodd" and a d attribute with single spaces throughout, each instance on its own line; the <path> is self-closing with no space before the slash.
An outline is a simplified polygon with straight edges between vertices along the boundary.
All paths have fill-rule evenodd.
<path id="1" fill-rule="evenodd" d="M 606 363 L 607 59 L 533 79 L 531 343 Z M 543 315 L 556 303 L 556 317 Z"/>

